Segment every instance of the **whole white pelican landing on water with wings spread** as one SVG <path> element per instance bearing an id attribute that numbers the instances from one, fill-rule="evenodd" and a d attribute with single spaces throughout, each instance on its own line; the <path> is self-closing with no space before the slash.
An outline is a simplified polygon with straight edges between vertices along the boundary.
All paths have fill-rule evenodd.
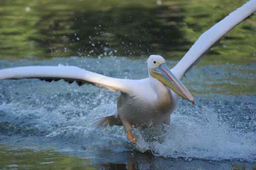
<path id="1" fill-rule="evenodd" d="M 79 86 L 90 83 L 111 91 L 119 91 L 121 94 L 117 99 L 116 112 L 100 118 L 96 124 L 124 126 L 129 141 L 137 144 L 131 132 L 132 126 L 150 127 L 170 124 L 170 115 L 177 107 L 179 96 L 194 104 L 194 98 L 181 82 L 181 78 L 211 46 L 255 10 L 256 0 L 250 0 L 230 13 L 203 33 L 171 70 L 162 56 L 149 56 L 147 60 L 149 77 L 145 79 L 116 79 L 76 66 L 25 66 L 0 70 L 0 80 L 40 79 L 51 82 L 64 79 L 69 83 L 76 81 Z"/>

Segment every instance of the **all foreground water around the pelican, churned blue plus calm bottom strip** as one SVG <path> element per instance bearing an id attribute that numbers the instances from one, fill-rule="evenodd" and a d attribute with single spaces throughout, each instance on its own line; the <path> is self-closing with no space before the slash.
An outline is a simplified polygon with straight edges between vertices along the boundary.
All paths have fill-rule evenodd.
<path id="1" fill-rule="evenodd" d="M 141 79 L 147 77 L 145 61 L 126 57 L 2 60 L 0 69 L 61 63 L 107 76 Z M 167 61 L 170 68 L 175 63 Z M 196 105 L 180 99 L 170 126 L 133 129 L 138 147 L 129 143 L 123 127 L 92 125 L 95 118 L 115 111 L 118 93 L 65 81 L 1 81 L 0 157 L 6 161 L 0 165 L 4 169 L 70 163 L 88 169 L 253 169 L 255 76 L 254 64 L 194 67 L 183 82 Z M 142 147 L 152 153 L 136 151 Z M 11 164 L 13 154 L 20 158 Z M 19 161 L 28 161 L 27 157 L 35 158 L 26 164 Z"/>

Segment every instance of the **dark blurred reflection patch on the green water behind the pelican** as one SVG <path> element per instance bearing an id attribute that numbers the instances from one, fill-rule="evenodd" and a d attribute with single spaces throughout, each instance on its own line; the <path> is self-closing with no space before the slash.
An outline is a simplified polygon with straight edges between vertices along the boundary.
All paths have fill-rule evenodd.
<path id="1" fill-rule="evenodd" d="M 50 14 L 38 23 L 41 28 L 39 33 L 45 39 L 39 41 L 37 36 L 32 38 L 38 41 L 40 46 L 51 48 L 49 41 L 63 45 L 51 49 L 52 51 L 57 50 L 60 53 L 66 51 L 80 56 L 104 55 L 105 52 L 105 54 L 138 56 L 155 52 L 163 53 L 164 50 L 183 51 L 184 47 L 177 42 L 185 45 L 189 42 L 182 36 L 178 25 L 173 24 L 170 27 L 164 23 L 177 23 L 184 17 L 170 16 L 162 19 L 159 15 L 165 15 L 168 12 L 166 10 L 165 6 L 154 9 L 131 6 L 107 11 L 85 10 L 75 11 L 72 16 L 67 14 L 61 20 L 54 20 L 53 15 Z M 51 23 L 48 29 L 45 29 L 46 23 Z M 66 27 L 70 27 L 74 33 L 65 34 Z M 53 39 L 49 40 L 47 37 Z"/>

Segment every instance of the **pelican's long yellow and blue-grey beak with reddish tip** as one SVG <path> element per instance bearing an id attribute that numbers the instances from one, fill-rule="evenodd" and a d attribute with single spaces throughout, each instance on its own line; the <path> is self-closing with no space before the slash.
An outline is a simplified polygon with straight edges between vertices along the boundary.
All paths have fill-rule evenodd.
<path id="1" fill-rule="evenodd" d="M 150 75 L 161 81 L 179 96 L 190 101 L 192 104 L 195 104 L 194 97 L 184 86 L 184 84 L 174 76 L 174 74 L 170 71 L 165 63 L 160 64 L 157 68 L 153 69 L 150 72 Z"/>

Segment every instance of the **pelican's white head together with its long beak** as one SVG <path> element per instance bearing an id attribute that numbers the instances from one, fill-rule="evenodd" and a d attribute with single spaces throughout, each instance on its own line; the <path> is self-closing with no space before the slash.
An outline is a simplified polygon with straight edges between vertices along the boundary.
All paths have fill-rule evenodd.
<path id="1" fill-rule="evenodd" d="M 148 58 L 147 63 L 150 76 L 161 81 L 163 84 L 165 84 L 165 86 L 169 87 L 182 98 L 190 101 L 193 104 L 195 103 L 194 97 L 184 86 L 184 84 L 174 76 L 170 69 L 168 69 L 165 59 L 162 56 L 151 55 Z"/>

